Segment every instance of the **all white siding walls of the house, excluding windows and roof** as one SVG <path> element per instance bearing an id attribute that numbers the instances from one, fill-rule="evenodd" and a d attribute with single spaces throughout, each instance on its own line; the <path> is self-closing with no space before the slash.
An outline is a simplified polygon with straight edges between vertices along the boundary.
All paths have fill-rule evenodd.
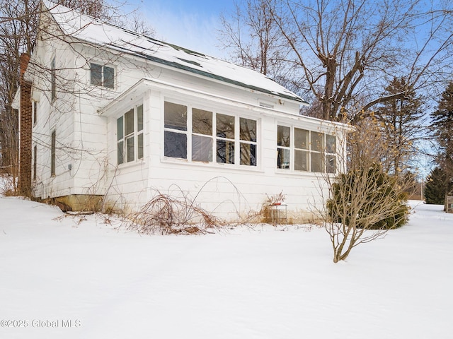
<path id="1" fill-rule="evenodd" d="M 333 131 L 332 124 L 301 117 L 299 102 L 144 59 L 115 56 L 86 44 L 64 44 L 57 38 L 38 41 L 32 59 L 50 69 L 49 56 L 55 56 L 57 77 L 69 85 L 64 84 L 68 90 L 57 90 L 57 100 L 51 102 L 50 76 L 30 79 L 33 99 L 38 101 L 33 128 L 33 146 L 38 147 L 36 196 L 105 194 L 105 207 L 125 210 L 138 210 L 159 192 L 196 196 L 195 202 L 203 208 L 222 216 L 233 213 L 231 218 L 236 212 L 260 210 L 267 196 L 280 192 L 286 197 L 289 215 L 299 213 L 294 214 L 296 218 L 303 218 L 309 205 L 319 202 L 321 174 L 277 169 L 277 125 L 323 133 L 341 129 Z M 90 62 L 114 67 L 113 90 L 90 84 Z M 166 100 L 256 120 L 257 166 L 164 157 Z M 144 107 L 144 158 L 117 165 L 116 119 L 140 104 Z M 54 130 L 57 161 L 51 176 Z"/>

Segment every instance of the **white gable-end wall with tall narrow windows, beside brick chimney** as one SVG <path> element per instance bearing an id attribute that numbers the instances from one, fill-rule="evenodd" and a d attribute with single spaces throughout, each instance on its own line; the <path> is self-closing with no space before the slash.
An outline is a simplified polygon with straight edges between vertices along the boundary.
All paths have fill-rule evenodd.
<path id="1" fill-rule="evenodd" d="M 74 64 L 73 55 L 65 53 L 65 47 L 57 39 L 38 41 L 29 69 L 38 71 L 30 79 L 33 82 L 32 100 L 36 102 L 36 121 L 33 121 L 32 150 L 36 146 L 36 174 L 32 173 L 35 196 L 47 198 L 71 194 L 74 178 L 67 169 L 71 162 L 71 145 L 74 141 L 74 97 L 57 88 L 57 100 L 52 102 L 50 69 L 55 57 L 57 78 L 62 86 L 63 79 L 72 77 L 67 65 Z M 60 86 L 60 87 L 62 87 Z M 51 175 L 51 134 L 56 131 L 55 176 Z M 33 168 L 32 168 L 33 172 Z"/>

